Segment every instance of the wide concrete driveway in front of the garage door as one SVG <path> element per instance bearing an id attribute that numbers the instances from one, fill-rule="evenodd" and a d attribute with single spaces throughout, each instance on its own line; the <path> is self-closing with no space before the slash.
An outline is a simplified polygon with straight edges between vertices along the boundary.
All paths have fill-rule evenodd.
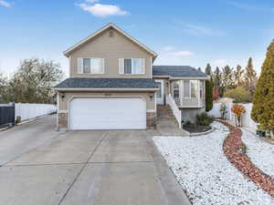
<path id="1" fill-rule="evenodd" d="M 54 131 L 56 116 L 0 132 L 2 205 L 189 205 L 156 131 Z"/>

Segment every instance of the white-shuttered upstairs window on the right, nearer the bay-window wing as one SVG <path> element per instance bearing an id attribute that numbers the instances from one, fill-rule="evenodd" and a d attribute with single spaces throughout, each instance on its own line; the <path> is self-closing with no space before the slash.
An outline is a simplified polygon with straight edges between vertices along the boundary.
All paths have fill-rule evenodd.
<path id="1" fill-rule="evenodd" d="M 144 74 L 145 59 L 144 58 L 120 58 L 119 73 L 120 74 Z"/>

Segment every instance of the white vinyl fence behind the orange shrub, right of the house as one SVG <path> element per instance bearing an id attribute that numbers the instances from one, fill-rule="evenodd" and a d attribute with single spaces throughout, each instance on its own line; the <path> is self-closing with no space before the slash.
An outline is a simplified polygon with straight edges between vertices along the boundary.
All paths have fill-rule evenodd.
<path id="1" fill-rule="evenodd" d="M 214 103 L 213 104 L 213 108 L 207 112 L 209 115 L 214 116 L 215 118 L 221 118 L 221 113 L 219 111 L 220 106 L 222 104 L 221 103 Z M 248 104 L 240 104 L 242 106 L 245 107 L 246 112 L 243 114 L 242 116 L 242 126 L 243 128 L 247 128 L 248 130 L 252 131 L 252 132 L 256 132 L 257 126 L 258 124 L 256 122 L 254 122 L 251 118 L 251 110 L 252 110 L 252 103 L 248 103 Z M 227 103 L 227 120 L 230 121 L 231 123 L 235 124 L 235 115 L 233 112 L 231 112 L 231 108 L 233 107 L 233 103 Z"/>

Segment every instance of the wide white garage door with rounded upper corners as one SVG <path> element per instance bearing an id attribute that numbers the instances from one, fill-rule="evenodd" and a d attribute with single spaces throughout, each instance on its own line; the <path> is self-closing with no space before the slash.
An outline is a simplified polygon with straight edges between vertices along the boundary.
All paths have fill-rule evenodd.
<path id="1" fill-rule="evenodd" d="M 140 97 L 75 97 L 69 102 L 70 129 L 145 129 Z"/>

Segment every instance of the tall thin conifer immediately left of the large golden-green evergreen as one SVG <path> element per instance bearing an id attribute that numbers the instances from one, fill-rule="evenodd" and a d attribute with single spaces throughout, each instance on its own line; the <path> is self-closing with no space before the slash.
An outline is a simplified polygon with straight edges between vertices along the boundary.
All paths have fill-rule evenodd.
<path id="1" fill-rule="evenodd" d="M 257 82 L 257 74 L 252 64 L 252 58 L 248 59 L 248 66 L 245 70 L 245 87 L 250 93 L 250 97 L 253 97 Z"/>

